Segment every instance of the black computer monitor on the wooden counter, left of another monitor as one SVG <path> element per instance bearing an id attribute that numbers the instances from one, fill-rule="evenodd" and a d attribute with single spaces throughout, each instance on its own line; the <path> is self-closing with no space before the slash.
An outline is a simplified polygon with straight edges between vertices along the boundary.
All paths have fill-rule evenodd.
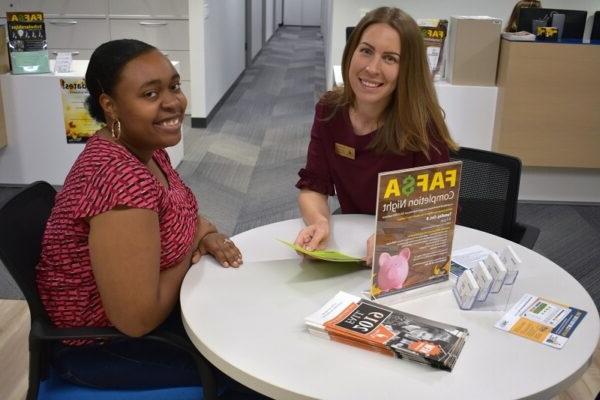
<path id="1" fill-rule="evenodd" d="M 521 8 L 519 10 L 518 31 L 531 32 L 533 20 L 546 19 L 548 26 L 551 26 L 552 13 L 564 14 L 565 23 L 563 25 L 562 39 L 583 38 L 587 11 L 582 10 L 560 10 L 558 8 Z M 532 32 L 535 33 L 535 32 Z"/>

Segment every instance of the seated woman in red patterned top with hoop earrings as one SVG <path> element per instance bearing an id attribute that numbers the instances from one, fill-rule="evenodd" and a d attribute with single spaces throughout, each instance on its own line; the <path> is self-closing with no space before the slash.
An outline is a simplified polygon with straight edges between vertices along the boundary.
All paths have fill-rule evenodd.
<path id="1" fill-rule="evenodd" d="M 225 267 L 238 267 L 242 256 L 198 216 L 194 194 L 164 150 L 181 140 L 187 106 L 171 62 L 146 43 L 115 40 L 96 49 L 85 78 L 90 114 L 106 127 L 87 142 L 56 197 L 38 291 L 56 326 L 114 326 L 142 336 L 173 310 L 177 319 L 181 283 L 200 256 Z M 55 352 L 55 364 L 64 378 L 96 387 L 197 382 L 192 360 L 139 342 L 68 343 Z M 151 367 L 134 374 L 127 366 L 105 368 L 113 370 L 109 377 L 77 370 L 82 357 L 105 363 L 113 356 Z M 163 369 L 152 369 L 164 360 Z"/>

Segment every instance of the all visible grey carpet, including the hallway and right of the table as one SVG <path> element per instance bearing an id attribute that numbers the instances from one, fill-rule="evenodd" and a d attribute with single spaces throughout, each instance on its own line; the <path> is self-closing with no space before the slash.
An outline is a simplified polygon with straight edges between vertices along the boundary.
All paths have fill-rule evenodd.
<path id="1" fill-rule="evenodd" d="M 281 28 L 209 127 L 188 122 L 178 171 L 223 232 L 298 216 L 294 183 L 324 84 L 318 30 Z M 15 191 L 0 188 L 0 203 Z M 569 271 L 600 306 L 600 206 L 520 204 L 518 219 L 541 229 L 534 250 Z M 0 267 L 0 298 L 20 297 Z"/>

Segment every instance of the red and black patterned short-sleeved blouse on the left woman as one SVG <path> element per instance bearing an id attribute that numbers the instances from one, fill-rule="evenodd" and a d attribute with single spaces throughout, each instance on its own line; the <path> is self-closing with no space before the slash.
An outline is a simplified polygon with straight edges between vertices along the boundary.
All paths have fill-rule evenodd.
<path id="1" fill-rule="evenodd" d="M 110 326 L 92 274 L 90 217 L 115 206 L 154 210 L 160 224 L 160 268 L 174 265 L 190 250 L 198 206 L 194 194 L 157 150 L 165 188 L 124 147 L 98 135 L 90 138 L 67 175 L 46 225 L 37 286 L 42 303 L 58 327 Z"/>

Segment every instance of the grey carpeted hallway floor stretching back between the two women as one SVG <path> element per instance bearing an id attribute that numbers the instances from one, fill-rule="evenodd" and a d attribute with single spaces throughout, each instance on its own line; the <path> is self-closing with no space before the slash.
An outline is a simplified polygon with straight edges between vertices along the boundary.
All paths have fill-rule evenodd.
<path id="1" fill-rule="evenodd" d="M 210 121 L 190 128 L 177 168 L 200 212 L 235 234 L 297 217 L 314 106 L 325 89 L 318 28 L 282 27 Z"/>

